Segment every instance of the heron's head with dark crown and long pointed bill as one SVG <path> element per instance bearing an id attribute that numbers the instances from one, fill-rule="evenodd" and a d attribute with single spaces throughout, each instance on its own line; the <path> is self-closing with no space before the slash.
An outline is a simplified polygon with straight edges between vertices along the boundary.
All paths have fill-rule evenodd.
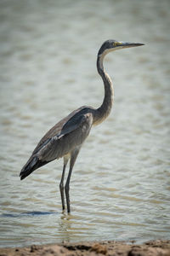
<path id="1" fill-rule="evenodd" d="M 107 54 L 110 51 L 116 50 L 116 49 L 123 49 L 123 48 L 129 48 L 129 47 L 136 47 L 141 46 L 144 44 L 139 43 L 125 43 L 125 42 L 118 42 L 116 40 L 107 40 L 102 44 L 101 48 L 99 49 L 99 55 Z"/>

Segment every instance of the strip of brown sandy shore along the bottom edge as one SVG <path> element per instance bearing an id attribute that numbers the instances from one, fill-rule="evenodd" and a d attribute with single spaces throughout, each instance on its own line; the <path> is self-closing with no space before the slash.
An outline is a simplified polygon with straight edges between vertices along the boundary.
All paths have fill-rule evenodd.
<path id="1" fill-rule="evenodd" d="M 57 255 L 114 255 L 114 256 L 170 256 L 170 240 L 148 241 L 137 245 L 133 242 L 94 241 L 30 247 L 0 248 L 0 256 L 57 256 Z"/>

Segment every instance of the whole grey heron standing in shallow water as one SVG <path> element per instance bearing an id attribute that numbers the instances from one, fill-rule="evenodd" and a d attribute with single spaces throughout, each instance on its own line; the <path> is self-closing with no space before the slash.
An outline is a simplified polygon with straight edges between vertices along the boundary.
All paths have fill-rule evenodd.
<path id="1" fill-rule="evenodd" d="M 102 44 L 97 57 L 98 73 L 103 79 L 105 86 L 105 97 L 101 106 L 99 108 L 83 106 L 81 108 L 77 108 L 77 110 L 70 113 L 64 119 L 61 119 L 59 123 L 54 125 L 54 127 L 52 127 L 44 137 L 42 137 L 41 141 L 32 152 L 30 159 L 26 162 L 26 165 L 20 172 L 20 179 L 24 179 L 37 168 L 44 166 L 55 159 L 63 157 L 64 166 L 59 183 L 59 189 L 63 210 L 65 210 L 66 197 L 67 212 L 71 212 L 69 195 L 71 172 L 75 161 L 77 160 L 80 148 L 82 147 L 82 143 L 88 137 L 92 126 L 99 125 L 99 123 L 106 119 L 111 112 L 113 104 L 114 90 L 111 78 L 107 73 L 105 73 L 105 69 L 103 67 L 104 57 L 110 51 L 140 45 L 143 44 L 122 43 L 117 42 L 116 40 L 107 40 Z M 64 186 L 65 167 L 69 160 L 70 169 Z"/>

